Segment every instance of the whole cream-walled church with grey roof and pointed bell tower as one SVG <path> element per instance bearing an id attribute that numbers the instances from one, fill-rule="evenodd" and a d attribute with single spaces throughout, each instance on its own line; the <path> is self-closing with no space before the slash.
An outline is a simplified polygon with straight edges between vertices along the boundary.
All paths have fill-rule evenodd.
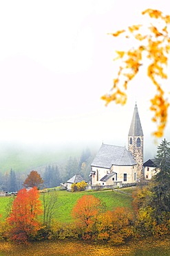
<path id="1" fill-rule="evenodd" d="M 137 104 L 126 147 L 102 144 L 91 164 L 91 185 L 136 183 L 143 174 L 143 132 Z"/>

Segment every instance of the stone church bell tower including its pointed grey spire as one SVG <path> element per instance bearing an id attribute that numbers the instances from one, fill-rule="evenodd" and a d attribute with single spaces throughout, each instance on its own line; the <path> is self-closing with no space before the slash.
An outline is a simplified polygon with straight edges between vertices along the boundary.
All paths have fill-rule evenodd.
<path id="1" fill-rule="evenodd" d="M 132 153 L 134 160 L 138 164 L 137 179 L 139 180 L 143 176 L 143 132 L 137 104 L 135 104 L 134 115 L 128 134 L 128 150 Z"/>

